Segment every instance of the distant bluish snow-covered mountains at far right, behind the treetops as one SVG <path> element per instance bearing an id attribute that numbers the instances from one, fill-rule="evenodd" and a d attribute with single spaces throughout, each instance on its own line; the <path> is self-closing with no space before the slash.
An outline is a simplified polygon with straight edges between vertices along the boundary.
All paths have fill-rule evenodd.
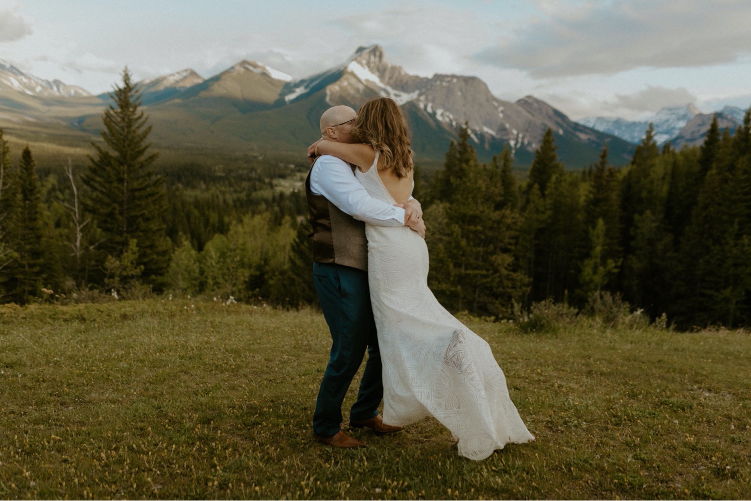
<path id="1" fill-rule="evenodd" d="M 672 146 L 680 149 L 684 145 L 701 144 L 715 114 L 717 125 L 721 130 L 727 128 L 729 131 L 734 131 L 743 123 L 745 111 L 739 107 L 725 106 L 716 113 L 701 113 L 693 104 L 686 104 L 686 106 L 664 107 L 646 120 L 629 121 L 598 116 L 580 119 L 579 123 L 606 134 L 613 134 L 634 144 L 644 139 L 647 127 L 651 123 L 658 144 L 670 141 Z"/>

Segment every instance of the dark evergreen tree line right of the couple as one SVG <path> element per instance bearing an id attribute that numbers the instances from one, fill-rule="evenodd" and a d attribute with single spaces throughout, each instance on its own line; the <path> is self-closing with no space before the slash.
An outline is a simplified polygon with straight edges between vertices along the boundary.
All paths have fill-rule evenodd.
<path id="1" fill-rule="evenodd" d="M 503 317 L 514 301 L 596 309 L 617 295 L 682 328 L 751 321 L 751 110 L 680 150 L 650 125 L 622 169 L 605 146 L 566 171 L 548 129 L 523 184 L 508 149 L 478 164 L 465 129 L 424 198 L 430 282 L 450 309 Z"/>

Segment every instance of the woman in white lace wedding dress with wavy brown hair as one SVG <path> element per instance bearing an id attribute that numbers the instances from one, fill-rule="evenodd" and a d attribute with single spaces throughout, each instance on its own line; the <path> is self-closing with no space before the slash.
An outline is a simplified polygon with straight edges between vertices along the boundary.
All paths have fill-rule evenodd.
<path id="1" fill-rule="evenodd" d="M 390 98 L 366 102 L 350 136 L 318 140 L 315 155 L 357 166 L 369 195 L 403 204 L 412 195 L 410 131 Z M 406 226 L 366 225 L 368 280 L 383 363 L 383 421 L 412 424 L 427 415 L 458 441 L 460 456 L 484 459 L 509 442 L 529 442 L 490 346 L 454 318 L 427 286 L 425 240 Z"/>

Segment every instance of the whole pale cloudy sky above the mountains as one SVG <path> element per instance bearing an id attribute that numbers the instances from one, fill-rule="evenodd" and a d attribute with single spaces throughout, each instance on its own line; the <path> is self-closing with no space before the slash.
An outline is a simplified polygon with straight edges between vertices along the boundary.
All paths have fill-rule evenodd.
<path id="1" fill-rule="evenodd" d="M 572 119 L 751 106 L 749 0 L 0 0 L 0 59 L 98 94 L 243 59 L 309 77 L 379 44 L 410 74 L 479 77 Z"/>

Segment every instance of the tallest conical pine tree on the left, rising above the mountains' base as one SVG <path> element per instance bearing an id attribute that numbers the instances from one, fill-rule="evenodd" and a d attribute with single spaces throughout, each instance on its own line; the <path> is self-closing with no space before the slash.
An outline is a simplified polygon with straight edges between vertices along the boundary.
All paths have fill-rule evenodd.
<path id="1" fill-rule="evenodd" d="M 150 169 L 158 153 L 149 152 L 151 125 L 140 111 L 140 92 L 128 68 L 122 72 L 122 86 L 110 98 L 113 103 L 104 112 L 101 131 L 107 149 L 92 143 L 96 156 L 89 156 L 89 171 L 83 177 L 89 189 L 83 202 L 106 238 L 101 249 L 117 259 L 135 240 L 141 278 L 158 286 L 170 260 L 162 222 L 164 187 Z"/>

